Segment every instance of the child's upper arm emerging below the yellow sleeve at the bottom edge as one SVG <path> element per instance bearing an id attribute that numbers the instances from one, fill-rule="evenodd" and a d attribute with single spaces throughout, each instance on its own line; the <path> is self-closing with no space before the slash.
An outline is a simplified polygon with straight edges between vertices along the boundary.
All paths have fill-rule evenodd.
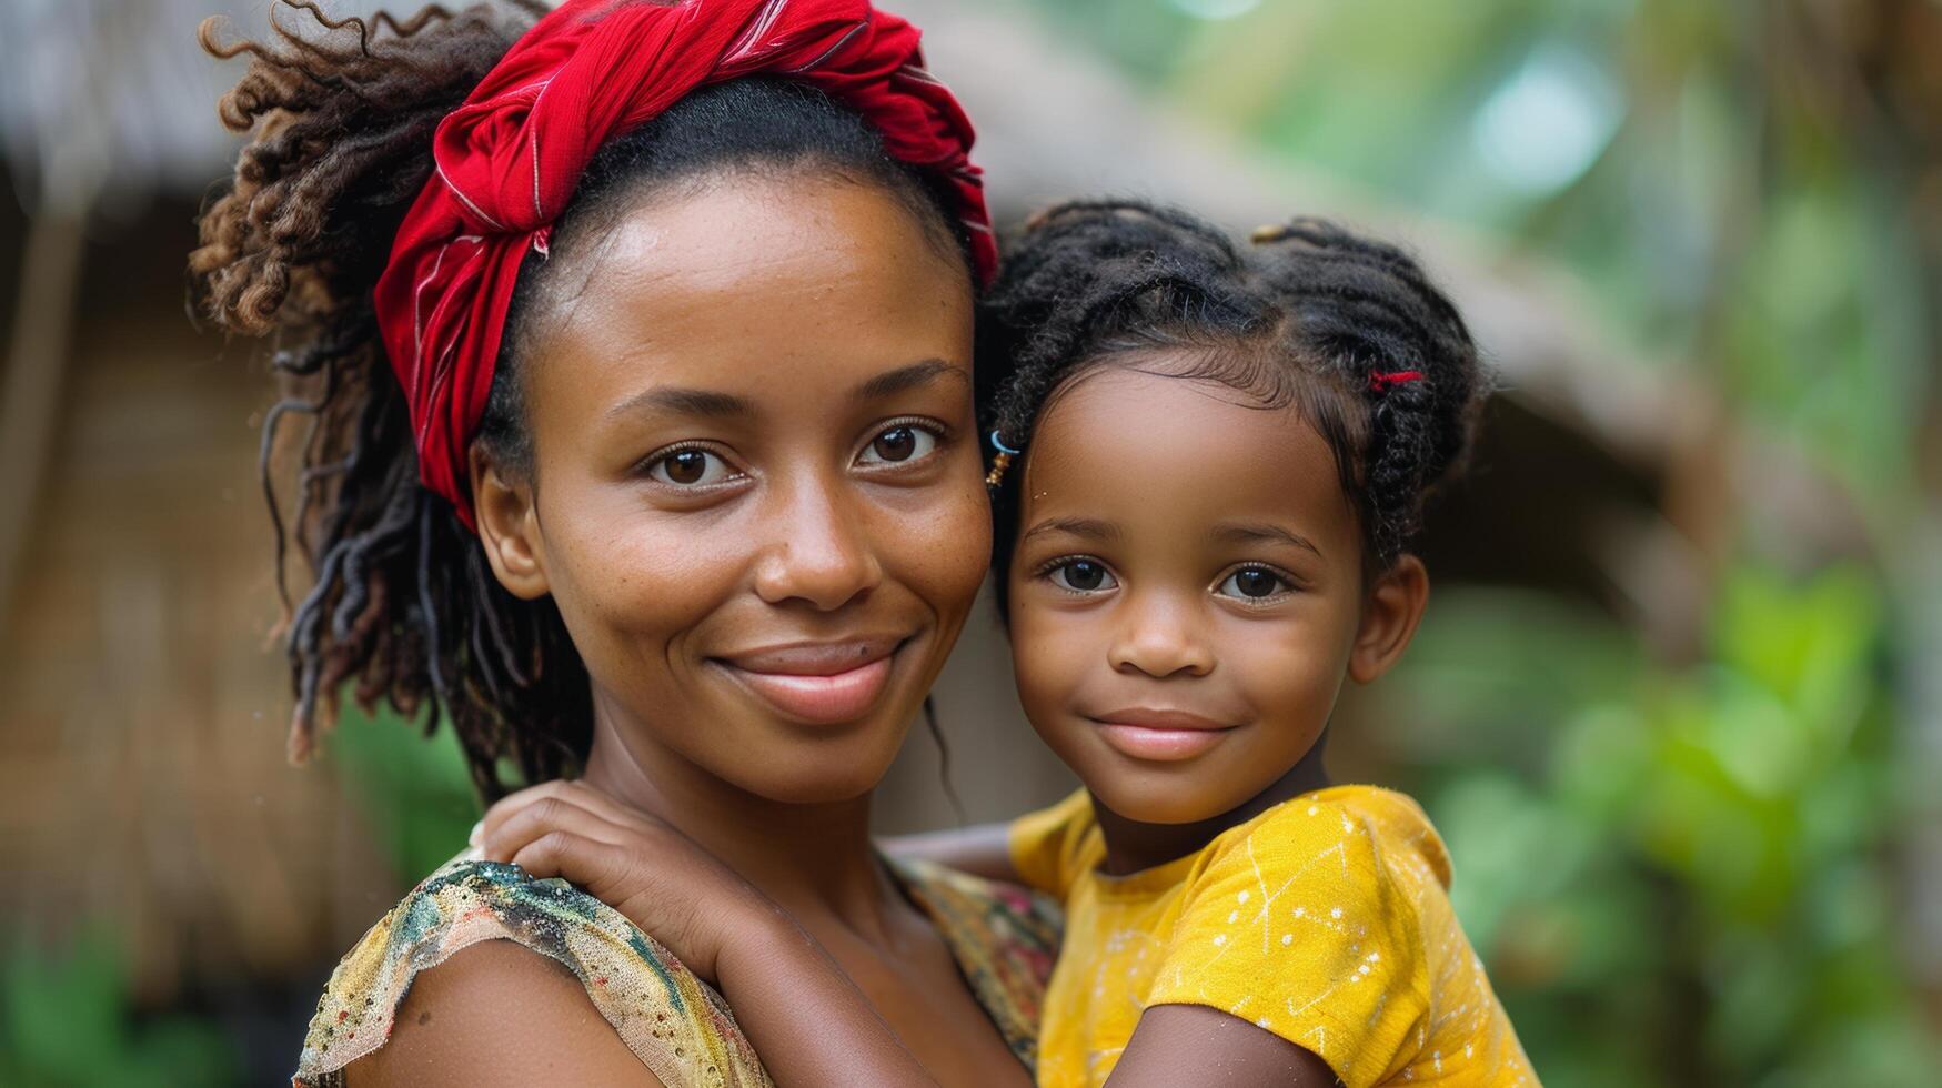
<path id="1" fill-rule="evenodd" d="M 1107 1088 L 1208 1084 L 1330 1088 L 1328 1063 L 1288 1039 L 1204 1004 L 1155 1004 L 1140 1014 Z"/>

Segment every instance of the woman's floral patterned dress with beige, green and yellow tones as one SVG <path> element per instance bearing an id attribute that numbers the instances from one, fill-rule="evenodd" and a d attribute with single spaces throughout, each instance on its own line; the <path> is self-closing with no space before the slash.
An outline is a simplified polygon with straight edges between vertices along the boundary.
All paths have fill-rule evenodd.
<path id="1" fill-rule="evenodd" d="M 1058 907 L 1021 888 L 934 865 L 887 865 L 938 927 L 1012 1053 L 1033 1069 L 1039 1001 L 1058 950 Z M 565 964 L 668 1088 L 769 1084 L 728 1003 L 619 911 L 565 880 L 534 880 L 517 867 L 468 857 L 427 876 L 344 956 L 317 1003 L 291 1084 L 342 1086 L 344 1067 L 390 1037 L 418 971 L 495 938 Z"/>

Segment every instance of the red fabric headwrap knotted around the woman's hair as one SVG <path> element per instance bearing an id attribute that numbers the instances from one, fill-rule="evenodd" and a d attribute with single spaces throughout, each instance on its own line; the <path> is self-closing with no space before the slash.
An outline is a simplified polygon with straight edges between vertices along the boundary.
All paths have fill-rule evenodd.
<path id="1" fill-rule="evenodd" d="M 466 447 L 486 412 L 526 247 L 602 144 L 695 87 L 783 76 L 821 87 L 897 159 L 957 192 L 979 280 L 998 247 L 957 99 L 924 72 L 917 27 L 868 0 L 567 0 L 439 122 L 437 173 L 404 216 L 377 282 L 377 323 L 412 408 L 418 472 L 474 528 Z"/>

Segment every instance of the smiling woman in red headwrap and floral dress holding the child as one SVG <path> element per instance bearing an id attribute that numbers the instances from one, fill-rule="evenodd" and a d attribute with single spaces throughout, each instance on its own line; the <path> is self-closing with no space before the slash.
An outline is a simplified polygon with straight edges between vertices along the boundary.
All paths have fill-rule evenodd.
<path id="1" fill-rule="evenodd" d="M 487 797 L 577 775 L 672 824 L 938 1080 L 1029 1082 L 1045 919 L 868 839 L 990 532 L 994 251 L 917 33 L 860 0 L 326 25 L 204 29 L 254 56 L 223 117 L 256 136 L 192 256 L 313 394 L 293 752 L 346 684 L 443 709 Z M 338 968 L 297 1082 L 759 1084 L 752 1039 L 825 1080 L 802 1008 L 744 1036 L 596 900 L 454 863 Z"/>

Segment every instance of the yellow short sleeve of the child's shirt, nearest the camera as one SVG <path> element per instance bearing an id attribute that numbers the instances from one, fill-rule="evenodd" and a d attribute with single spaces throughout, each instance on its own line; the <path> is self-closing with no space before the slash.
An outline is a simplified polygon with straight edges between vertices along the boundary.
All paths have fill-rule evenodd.
<path id="1" fill-rule="evenodd" d="M 1190 878 L 1148 1004 L 1206 1004 L 1381 1084 L 1427 1032 L 1422 925 L 1373 828 L 1295 799 L 1216 841 Z"/>

